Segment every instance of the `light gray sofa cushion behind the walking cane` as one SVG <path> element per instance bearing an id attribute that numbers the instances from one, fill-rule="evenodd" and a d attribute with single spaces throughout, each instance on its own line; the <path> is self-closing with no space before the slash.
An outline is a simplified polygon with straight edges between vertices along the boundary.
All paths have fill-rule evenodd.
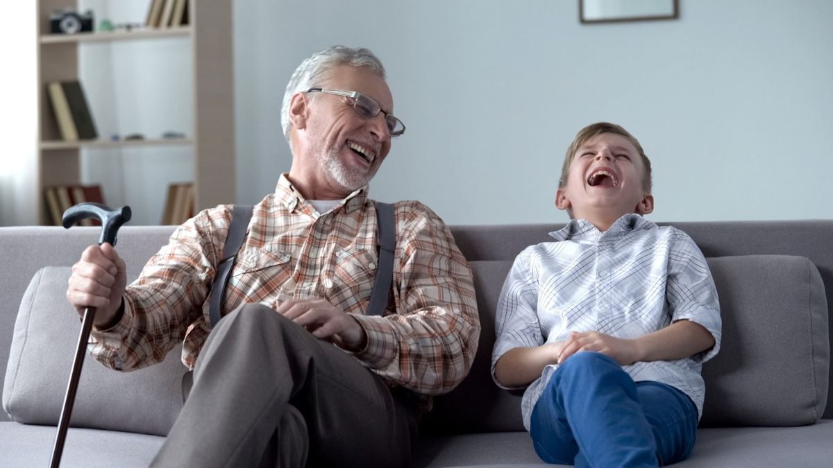
<path id="1" fill-rule="evenodd" d="M 67 266 L 44 267 L 23 296 L 2 396 L 13 421 L 57 425 L 81 330 L 65 296 L 70 273 Z M 182 409 L 187 369 L 180 349 L 132 372 L 112 371 L 87 354 L 71 426 L 166 435 Z"/>

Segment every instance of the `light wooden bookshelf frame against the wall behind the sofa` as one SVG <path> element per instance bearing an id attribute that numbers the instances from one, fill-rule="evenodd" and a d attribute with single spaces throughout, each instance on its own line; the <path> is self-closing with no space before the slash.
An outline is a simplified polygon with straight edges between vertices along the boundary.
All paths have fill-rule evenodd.
<path id="1" fill-rule="evenodd" d="M 84 4 L 79 6 L 72 0 L 38 0 L 38 162 L 35 187 L 37 193 L 33 196 L 39 200 L 38 219 L 42 224 L 47 223 L 48 219 L 44 188 L 81 184 L 84 150 L 113 151 L 114 157 L 119 157 L 115 154 L 117 152 L 129 150 L 132 153 L 131 157 L 137 157 L 137 152 L 140 155 L 138 157 L 142 157 L 142 152 L 153 152 L 158 148 L 187 148 L 192 153 L 195 209 L 198 211 L 220 203 L 234 202 L 236 192 L 231 0 L 187 1 L 186 26 L 142 28 L 130 32 L 50 34 L 49 17 L 52 12 L 67 7 L 80 11 Z M 148 0 L 148 7 L 150 4 L 151 1 Z M 95 27 L 98 27 L 100 19 L 96 17 Z M 135 22 L 143 23 L 145 19 L 137 17 Z M 190 42 L 188 50 L 191 57 L 185 58 L 192 62 L 189 88 L 192 93 L 190 100 L 193 102 L 193 124 L 192 128 L 184 129 L 185 138 L 163 139 L 148 136 L 145 140 L 111 141 L 101 134 L 102 125 L 99 123 L 99 138 L 96 140 L 69 142 L 62 139 L 47 95 L 47 83 L 79 79 L 79 48 L 86 47 L 86 44 L 167 40 Z M 84 87 L 84 92 L 89 101 L 97 90 Z M 102 181 L 83 182 L 95 184 Z M 131 180 L 125 183 L 142 184 L 142 181 Z M 158 191 L 158 188 L 148 190 Z M 161 202 L 151 216 L 156 220 L 155 223 L 162 221 L 166 191 L 163 190 L 157 196 Z M 107 202 L 115 204 L 110 200 Z M 127 203 L 129 204 L 130 200 L 127 200 Z"/>

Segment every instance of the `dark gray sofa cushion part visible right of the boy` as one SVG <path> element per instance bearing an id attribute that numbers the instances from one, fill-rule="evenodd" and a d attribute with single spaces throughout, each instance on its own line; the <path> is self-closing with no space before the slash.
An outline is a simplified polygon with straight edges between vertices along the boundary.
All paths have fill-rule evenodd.
<path id="1" fill-rule="evenodd" d="M 825 411 L 830 341 L 825 286 L 803 256 L 709 258 L 721 351 L 703 365 L 701 426 L 800 426 Z"/>

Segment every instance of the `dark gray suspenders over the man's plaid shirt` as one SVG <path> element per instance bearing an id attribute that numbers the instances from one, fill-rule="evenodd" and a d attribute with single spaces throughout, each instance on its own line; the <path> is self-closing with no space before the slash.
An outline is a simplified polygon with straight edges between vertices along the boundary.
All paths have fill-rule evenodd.
<path id="1" fill-rule="evenodd" d="M 379 235 L 379 265 L 367 315 L 381 316 L 387 306 L 387 296 L 393 281 L 393 255 L 397 250 L 397 224 L 392 203 L 376 203 L 376 217 Z M 222 261 L 217 266 L 217 276 L 214 276 L 211 293 L 208 296 L 208 316 L 211 317 L 212 328 L 220 321 L 220 309 L 225 296 L 228 276 L 232 272 L 237 253 L 246 239 L 249 221 L 252 219 L 252 207 L 235 205 L 232 212 L 232 225 L 228 228 L 226 246 L 223 247 Z"/>

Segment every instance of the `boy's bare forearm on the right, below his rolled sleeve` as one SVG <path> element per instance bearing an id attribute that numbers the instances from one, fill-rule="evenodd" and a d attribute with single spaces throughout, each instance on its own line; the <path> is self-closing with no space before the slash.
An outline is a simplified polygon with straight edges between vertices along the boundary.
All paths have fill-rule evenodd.
<path id="1" fill-rule="evenodd" d="M 636 338 L 637 361 L 673 361 L 693 356 L 715 345 L 711 332 L 698 323 L 681 320 Z"/>

